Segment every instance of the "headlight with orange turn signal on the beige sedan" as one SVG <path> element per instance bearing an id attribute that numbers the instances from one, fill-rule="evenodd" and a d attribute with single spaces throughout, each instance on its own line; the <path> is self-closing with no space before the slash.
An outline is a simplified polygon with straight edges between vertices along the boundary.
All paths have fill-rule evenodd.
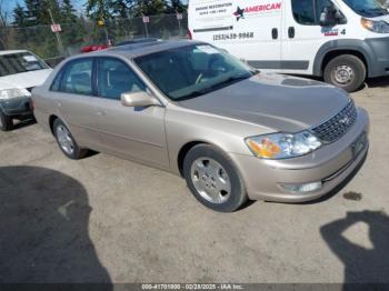
<path id="1" fill-rule="evenodd" d="M 252 137 L 246 143 L 258 158 L 272 160 L 303 155 L 321 147 L 320 140 L 309 131 Z"/>

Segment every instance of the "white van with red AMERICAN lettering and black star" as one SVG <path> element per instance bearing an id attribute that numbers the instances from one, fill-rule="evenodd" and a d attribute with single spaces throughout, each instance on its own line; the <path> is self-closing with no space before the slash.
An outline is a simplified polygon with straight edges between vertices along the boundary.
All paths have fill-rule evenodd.
<path id="1" fill-rule="evenodd" d="M 190 0 L 189 33 L 255 68 L 347 91 L 389 76 L 389 12 L 376 0 Z"/>

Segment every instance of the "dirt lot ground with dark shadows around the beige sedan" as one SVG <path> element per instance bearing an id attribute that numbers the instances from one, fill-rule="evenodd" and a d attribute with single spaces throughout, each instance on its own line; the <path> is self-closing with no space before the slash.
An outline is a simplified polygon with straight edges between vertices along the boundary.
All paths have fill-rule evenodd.
<path id="1" fill-rule="evenodd" d="M 0 282 L 389 282 L 389 80 L 369 87 L 353 97 L 370 151 L 346 188 L 232 214 L 156 169 L 68 160 L 37 124 L 0 133 Z"/>

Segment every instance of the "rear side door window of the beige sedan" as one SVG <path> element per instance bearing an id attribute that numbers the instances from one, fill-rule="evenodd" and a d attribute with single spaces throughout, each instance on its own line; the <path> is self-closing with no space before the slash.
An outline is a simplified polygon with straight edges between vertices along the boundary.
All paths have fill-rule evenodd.
<path id="1" fill-rule="evenodd" d="M 60 91 L 74 94 L 92 94 L 92 59 L 70 62 L 66 67 Z"/>

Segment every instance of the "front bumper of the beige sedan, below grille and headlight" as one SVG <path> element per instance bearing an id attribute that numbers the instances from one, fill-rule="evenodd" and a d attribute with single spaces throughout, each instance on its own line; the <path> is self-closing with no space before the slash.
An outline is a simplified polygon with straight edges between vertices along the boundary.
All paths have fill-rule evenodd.
<path id="1" fill-rule="evenodd" d="M 252 200 L 279 202 L 305 202 L 320 198 L 341 184 L 361 163 L 369 148 L 368 141 L 356 154 L 352 146 L 363 133 L 369 132 L 369 118 L 358 109 L 356 123 L 338 141 L 295 159 L 261 160 L 252 155 L 232 154 L 238 165 L 248 195 Z M 313 192 L 291 193 L 280 184 L 322 182 Z"/>

